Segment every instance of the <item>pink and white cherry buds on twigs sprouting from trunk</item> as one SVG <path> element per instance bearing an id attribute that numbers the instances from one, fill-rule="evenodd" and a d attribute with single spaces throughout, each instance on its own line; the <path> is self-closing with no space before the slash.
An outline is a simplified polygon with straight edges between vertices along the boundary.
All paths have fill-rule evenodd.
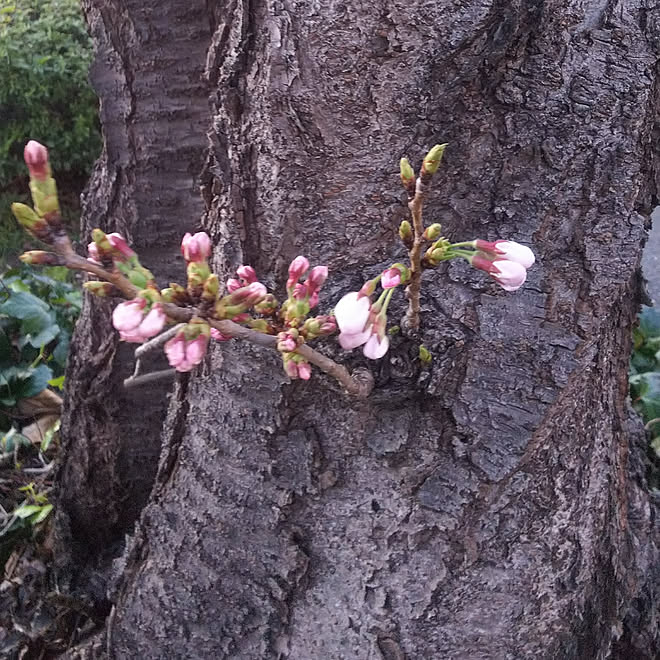
<path id="1" fill-rule="evenodd" d="M 312 311 L 320 304 L 328 268 L 324 265 L 311 267 L 309 260 L 302 255 L 289 265 L 286 297 L 281 301 L 259 281 L 250 265 L 239 266 L 221 284 L 209 266 L 213 245 L 205 232 L 187 233 L 181 242 L 181 253 L 186 262 L 186 285 L 172 283 L 160 289 L 151 271 L 140 263 L 124 236 L 95 229 L 88 245 L 87 262 L 80 260 L 88 264 L 84 270 L 101 279 L 88 281 L 85 287 L 96 295 L 107 297 L 116 295 L 115 284 L 120 279 L 126 283 L 122 291 L 130 292 L 133 298 L 119 303 L 112 313 L 113 326 L 120 339 L 126 342 L 143 343 L 156 337 L 166 325 L 181 318 L 175 309 L 186 310 L 184 318 L 189 320 L 181 324 L 164 344 L 170 365 L 180 372 L 192 370 L 203 360 L 211 339 L 228 341 L 241 335 L 236 331 L 238 326 L 253 333 L 272 335 L 284 371 L 292 379 L 307 380 L 311 376 L 310 359 L 314 352 L 303 350 L 303 346 L 337 331 L 343 349 L 351 351 L 361 347 L 365 357 L 377 360 L 389 350 L 387 312 L 398 287 L 407 287 L 411 301 L 409 314 L 419 316 L 418 297 L 423 270 L 433 269 L 443 261 L 462 258 L 472 267 L 486 272 L 505 291 L 515 291 L 523 285 L 527 269 L 535 261 L 528 247 L 514 241 L 474 239 L 451 243 L 442 235 L 439 223 L 424 227 L 422 202 L 445 146 L 436 145 L 428 152 L 418 177 L 410 163 L 405 158 L 401 160 L 401 181 L 408 194 L 412 222 L 404 220 L 401 223 L 399 236 L 408 250 L 409 263 L 388 266 L 365 282 L 360 290 L 342 296 L 334 310 L 322 314 Z M 34 208 L 14 204 L 12 210 L 31 234 L 53 246 L 54 251 L 34 250 L 21 258 L 28 263 L 64 263 L 74 267 L 67 262 L 67 255 L 72 253 L 70 243 L 64 250 L 57 247 L 61 243 L 62 228 L 47 149 L 38 142 L 28 142 L 25 162 L 30 172 Z M 376 297 L 379 287 L 380 293 Z M 219 323 L 227 320 L 232 324 Z M 424 360 L 428 359 L 430 354 L 426 351 Z M 317 361 L 316 364 L 321 363 Z"/>

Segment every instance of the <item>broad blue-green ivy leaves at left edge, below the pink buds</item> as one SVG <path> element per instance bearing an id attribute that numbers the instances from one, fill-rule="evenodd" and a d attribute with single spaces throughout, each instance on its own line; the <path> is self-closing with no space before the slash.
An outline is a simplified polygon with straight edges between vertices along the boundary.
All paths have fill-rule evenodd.
<path id="1" fill-rule="evenodd" d="M 7 271 L 0 290 L 0 407 L 61 385 L 82 295 L 66 268 Z M 9 412 L 6 410 L 6 412 Z M 0 414 L 0 428 L 11 426 Z"/>

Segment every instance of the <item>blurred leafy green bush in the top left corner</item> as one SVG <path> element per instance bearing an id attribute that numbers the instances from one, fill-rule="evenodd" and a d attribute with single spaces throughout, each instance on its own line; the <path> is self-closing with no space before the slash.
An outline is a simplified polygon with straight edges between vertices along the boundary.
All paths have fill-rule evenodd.
<path id="1" fill-rule="evenodd" d="M 55 171 L 88 172 L 101 147 L 78 0 L 0 0 L 0 181 L 25 173 L 29 139 Z"/>

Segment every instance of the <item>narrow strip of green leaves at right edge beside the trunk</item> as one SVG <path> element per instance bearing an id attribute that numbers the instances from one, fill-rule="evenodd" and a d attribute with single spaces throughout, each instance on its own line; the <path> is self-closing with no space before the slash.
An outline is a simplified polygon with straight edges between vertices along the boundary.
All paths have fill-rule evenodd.
<path id="1" fill-rule="evenodd" d="M 653 434 L 651 449 L 660 459 L 660 310 L 645 307 L 633 330 L 630 396 Z"/>

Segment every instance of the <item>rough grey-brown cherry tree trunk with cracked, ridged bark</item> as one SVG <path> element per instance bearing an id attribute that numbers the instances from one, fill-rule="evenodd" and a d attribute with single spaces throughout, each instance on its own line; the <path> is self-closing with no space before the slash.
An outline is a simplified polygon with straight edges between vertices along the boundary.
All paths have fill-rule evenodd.
<path id="1" fill-rule="evenodd" d="M 437 142 L 427 220 L 538 256 L 515 294 L 465 263 L 427 271 L 419 336 L 379 362 L 322 345 L 372 369 L 366 401 L 229 342 L 165 415 L 164 390 L 119 393 L 130 365 L 89 301 L 58 526 L 71 588 L 108 590 L 104 653 L 655 657 L 657 502 L 626 396 L 660 183 L 659 10 L 83 6 L 105 131 L 85 228 L 127 233 L 164 281 L 183 278 L 178 241 L 201 219 L 222 275 L 250 263 L 282 293 L 297 254 L 327 264 L 330 309 L 403 258 L 398 160 Z"/>

